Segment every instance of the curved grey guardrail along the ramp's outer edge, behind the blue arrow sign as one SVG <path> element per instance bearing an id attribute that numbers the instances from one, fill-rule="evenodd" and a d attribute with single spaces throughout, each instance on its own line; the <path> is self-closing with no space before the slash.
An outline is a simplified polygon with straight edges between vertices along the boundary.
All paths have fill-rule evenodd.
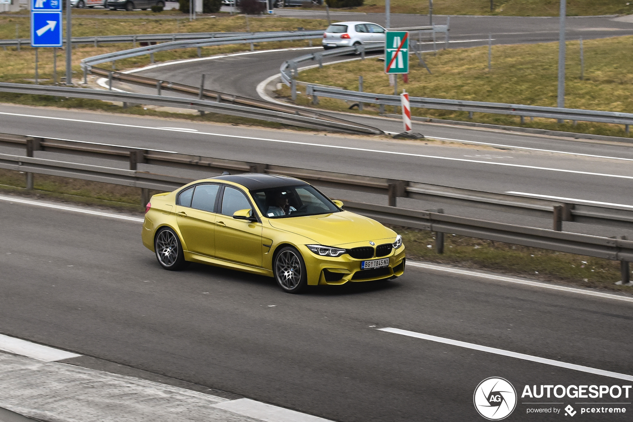
<path id="1" fill-rule="evenodd" d="M 323 30 L 318 31 L 285 31 L 285 32 L 257 32 L 254 34 L 235 35 L 231 37 L 207 38 L 201 40 L 181 40 L 164 42 L 155 46 L 137 47 L 133 49 L 115 51 L 114 53 L 99 54 L 81 61 L 84 70 L 90 70 L 91 66 L 116 61 L 120 59 L 143 56 L 149 54 L 151 62 L 154 63 L 154 53 L 180 48 L 196 48 L 208 46 L 224 46 L 227 44 L 251 44 L 254 42 L 274 42 L 274 41 L 296 41 L 315 39 L 323 36 Z"/>

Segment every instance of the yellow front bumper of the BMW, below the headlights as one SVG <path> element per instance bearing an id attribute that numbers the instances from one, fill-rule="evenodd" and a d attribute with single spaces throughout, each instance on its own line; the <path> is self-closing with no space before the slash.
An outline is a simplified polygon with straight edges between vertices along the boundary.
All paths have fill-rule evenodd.
<path id="1" fill-rule="evenodd" d="M 299 247 L 306 263 L 308 284 L 341 285 L 347 282 L 370 282 L 403 275 L 406 262 L 404 245 L 390 254 L 378 258 L 354 259 L 348 254 L 337 258 L 317 256 L 305 245 Z M 361 270 L 362 261 L 389 258 L 389 266 L 371 270 Z"/>

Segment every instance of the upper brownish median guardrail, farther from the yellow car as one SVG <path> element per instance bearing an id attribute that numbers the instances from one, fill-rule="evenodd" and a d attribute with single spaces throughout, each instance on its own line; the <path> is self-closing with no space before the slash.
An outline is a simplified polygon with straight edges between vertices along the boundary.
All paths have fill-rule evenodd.
<path id="1" fill-rule="evenodd" d="M 215 171 L 218 174 L 222 173 L 222 171 L 231 171 L 232 173 L 273 173 L 300 178 L 319 187 L 387 195 L 391 206 L 396 206 L 396 199 L 403 197 L 539 218 L 551 218 L 553 220 L 553 228 L 556 231 L 561 230 L 562 221 L 633 229 L 633 211 L 615 207 L 606 208 L 406 180 L 348 175 L 330 171 L 275 166 L 77 140 L 28 137 L 9 133 L 0 133 L 0 145 L 25 147 L 29 157 L 34 155 L 34 151 L 46 151 L 128 161 L 130 170 L 137 170 L 137 164 L 145 163 L 188 170 Z"/>

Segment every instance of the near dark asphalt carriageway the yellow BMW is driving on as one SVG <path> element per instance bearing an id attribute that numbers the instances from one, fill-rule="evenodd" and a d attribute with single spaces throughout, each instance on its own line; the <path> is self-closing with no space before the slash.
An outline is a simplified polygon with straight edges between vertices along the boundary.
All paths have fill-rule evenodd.
<path id="1" fill-rule="evenodd" d="M 8 201 L 0 213 L 6 335 L 341 422 L 479 420 L 473 391 L 489 376 L 518 390 L 509 420 L 558 420 L 527 408 L 579 410 L 579 401 L 631 411 L 624 396 L 520 398 L 524 385 L 630 381 L 377 330 L 630 374 L 630 302 L 413 266 L 387 285 L 289 295 L 271 278 L 196 264 L 161 270 L 140 223 Z"/>

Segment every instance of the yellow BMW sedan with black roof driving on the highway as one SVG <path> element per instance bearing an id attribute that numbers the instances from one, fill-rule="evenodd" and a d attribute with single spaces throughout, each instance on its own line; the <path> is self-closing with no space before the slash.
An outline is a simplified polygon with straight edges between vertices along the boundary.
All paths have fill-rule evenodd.
<path id="1" fill-rule="evenodd" d="M 296 178 L 222 175 L 151 197 L 142 240 L 165 270 L 232 268 L 289 293 L 402 275 L 401 236 L 342 206 Z"/>

